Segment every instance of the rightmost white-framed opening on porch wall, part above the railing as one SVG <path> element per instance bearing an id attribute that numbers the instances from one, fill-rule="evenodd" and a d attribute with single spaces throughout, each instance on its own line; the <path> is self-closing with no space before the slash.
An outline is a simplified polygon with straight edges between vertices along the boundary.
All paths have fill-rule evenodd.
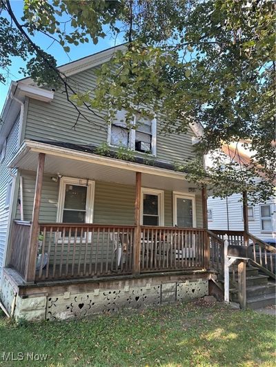
<path id="1" fill-rule="evenodd" d="M 177 227 L 195 227 L 195 197 L 174 194 L 173 224 Z"/>

